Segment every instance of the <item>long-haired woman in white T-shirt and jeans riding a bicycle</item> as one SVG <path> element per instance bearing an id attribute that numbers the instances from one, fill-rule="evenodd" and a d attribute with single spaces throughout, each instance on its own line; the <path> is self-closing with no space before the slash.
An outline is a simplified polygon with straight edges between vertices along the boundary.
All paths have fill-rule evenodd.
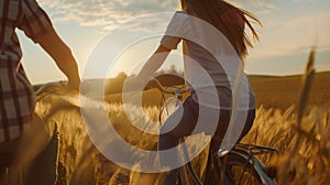
<path id="1" fill-rule="evenodd" d="M 218 150 L 234 107 L 232 83 L 235 80 L 233 78 L 240 72 L 238 66 L 248 54 L 246 47 L 252 46 L 244 32 L 245 24 L 250 28 L 253 37 L 257 40 L 257 34 L 246 17 L 260 22 L 249 12 L 222 0 L 180 0 L 180 8 L 182 11 L 177 11 L 167 25 L 160 46 L 134 81 L 148 79 L 162 66 L 168 53 L 176 50 L 183 41 L 185 80 L 191 95 L 162 126 L 158 151 L 174 149 L 180 138 L 198 131 L 211 134 L 211 149 Z M 213 34 L 215 32 L 218 33 Z M 226 41 L 222 40 L 223 37 Z M 231 63 L 233 68 L 228 69 L 230 67 L 226 65 Z M 231 72 L 234 72 L 234 75 L 230 74 Z M 249 132 L 255 117 L 255 97 L 249 81 L 245 87 L 248 90 L 241 98 L 248 102 L 243 110 L 246 117 L 235 142 Z M 206 124 L 212 122 L 212 119 L 216 119 L 217 126 L 210 127 L 212 128 L 210 130 Z M 199 122 L 205 124 L 205 130 L 196 130 Z M 173 161 L 176 161 L 177 155 L 177 152 L 174 157 L 160 153 L 161 166 L 175 168 L 168 172 L 163 184 L 176 184 L 178 171 Z"/>

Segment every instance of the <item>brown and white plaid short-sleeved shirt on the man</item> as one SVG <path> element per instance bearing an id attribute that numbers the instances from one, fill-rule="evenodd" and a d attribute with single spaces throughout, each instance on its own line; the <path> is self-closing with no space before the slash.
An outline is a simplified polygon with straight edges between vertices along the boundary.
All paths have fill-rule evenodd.
<path id="1" fill-rule="evenodd" d="M 6 142 L 21 135 L 35 104 L 15 29 L 36 42 L 52 23 L 35 0 L 0 0 L 0 142 Z"/>

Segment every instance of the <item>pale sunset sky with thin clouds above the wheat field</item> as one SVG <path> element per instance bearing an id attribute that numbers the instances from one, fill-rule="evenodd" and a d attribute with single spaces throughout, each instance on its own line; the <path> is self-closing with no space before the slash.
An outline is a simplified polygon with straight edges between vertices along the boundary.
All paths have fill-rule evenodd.
<path id="1" fill-rule="evenodd" d="M 317 46 L 317 72 L 330 70 L 329 0 L 228 0 L 255 14 L 263 23 L 257 28 L 260 42 L 250 50 L 245 62 L 249 75 L 301 74 L 310 47 Z M 70 46 L 82 75 L 89 56 L 105 35 L 136 17 L 174 12 L 177 0 L 38 0 L 61 37 Z M 166 23 L 153 25 L 166 29 Z M 139 29 L 131 25 L 130 29 Z M 23 50 L 23 66 L 32 84 L 65 79 L 52 58 L 23 32 L 18 31 Z M 120 44 L 120 40 L 113 41 Z M 148 56 L 157 37 L 138 46 Z M 134 59 L 127 52 L 122 61 Z M 125 66 L 120 66 L 124 68 Z M 119 68 L 120 68 L 119 67 Z M 119 69 L 120 70 L 120 69 Z"/>

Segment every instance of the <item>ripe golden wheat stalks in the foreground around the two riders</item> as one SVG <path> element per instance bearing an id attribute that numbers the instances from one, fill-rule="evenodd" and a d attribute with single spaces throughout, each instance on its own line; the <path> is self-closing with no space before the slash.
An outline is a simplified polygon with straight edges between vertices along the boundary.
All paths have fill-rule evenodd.
<path id="1" fill-rule="evenodd" d="M 54 95 L 55 96 L 55 95 Z M 58 104 L 54 104 L 57 102 Z M 54 106 L 55 105 L 55 106 Z M 57 106 L 57 107 L 56 107 Z M 128 142 L 145 150 L 156 150 L 157 137 L 143 134 L 128 120 L 121 104 L 106 104 L 109 119 Z M 141 174 L 124 170 L 95 149 L 86 133 L 79 108 L 55 96 L 37 104 L 37 111 L 51 115 L 59 126 L 58 184 L 157 184 L 158 174 Z M 145 107 L 154 120 L 158 107 Z M 297 127 L 297 106 L 286 110 L 258 107 L 250 133 L 242 142 L 278 148 L 279 156 L 260 156 L 266 165 L 276 166 L 279 184 L 328 184 L 330 182 L 330 108 L 308 107 Z M 135 115 L 134 119 L 145 120 Z M 198 141 L 198 140 L 197 140 Z M 200 176 L 206 165 L 207 149 L 194 160 Z"/>

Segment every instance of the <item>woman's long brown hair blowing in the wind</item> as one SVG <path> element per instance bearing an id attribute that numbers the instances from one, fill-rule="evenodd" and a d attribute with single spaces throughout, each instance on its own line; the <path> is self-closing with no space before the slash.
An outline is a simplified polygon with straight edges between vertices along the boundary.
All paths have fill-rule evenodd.
<path id="1" fill-rule="evenodd" d="M 248 46 L 253 47 L 245 33 L 245 24 L 249 26 L 253 40 L 258 41 L 258 35 L 248 18 L 258 25 L 262 23 L 245 10 L 223 0 L 180 0 L 180 2 L 182 9 L 188 14 L 202 19 L 221 31 L 242 58 L 248 54 Z"/>

